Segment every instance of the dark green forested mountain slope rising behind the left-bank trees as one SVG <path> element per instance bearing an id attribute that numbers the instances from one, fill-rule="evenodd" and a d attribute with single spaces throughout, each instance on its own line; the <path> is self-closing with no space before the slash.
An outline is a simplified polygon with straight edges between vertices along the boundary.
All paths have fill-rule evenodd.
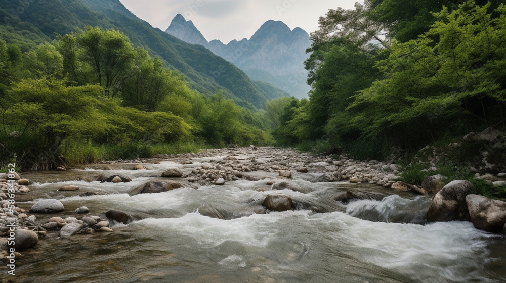
<path id="1" fill-rule="evenodd" d="M 189 85 L 206 95 L 223 91 L 238 105 L 263 108 L 278 93 L 265 92 L 242 70 L 199 45 L 189 44 L 153 28 L 126 9 L 119 0 L 38 0 L 25 3 L 1 0 L 0 35 L 23 51 L 57 35 L 86 25 L 114 28 L 127 34 L 134 46 L 142 46 L 162 59 L 168 68 L 185 75 Z M 13 11 L 22 13 L 14 14 Z"/>

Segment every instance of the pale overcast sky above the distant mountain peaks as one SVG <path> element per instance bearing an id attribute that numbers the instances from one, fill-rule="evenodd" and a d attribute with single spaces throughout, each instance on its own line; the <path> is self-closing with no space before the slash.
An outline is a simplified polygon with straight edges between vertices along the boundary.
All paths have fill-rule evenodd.
<path id="1" fill-rule="evenodd" d="M 268 20 L 311 33 L 329 9 L 353 9 L 356 0 L 120 0 L 137 17 L 163 31 L 181 14 L 207 41 L 250 38 Z M 363 1 L 359 1 L 363 3 Z"/>

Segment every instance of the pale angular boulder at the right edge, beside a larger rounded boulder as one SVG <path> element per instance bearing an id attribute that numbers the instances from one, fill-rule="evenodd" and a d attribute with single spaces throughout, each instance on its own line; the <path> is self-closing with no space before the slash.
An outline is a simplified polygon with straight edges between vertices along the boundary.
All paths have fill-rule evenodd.
<path id="1" fill-rule="evenodd" d="M 488 232 L 500 233 L 506 224 L 506 203 L 479 195 L 468 195 L 466 203 L 471 222 Z"/>

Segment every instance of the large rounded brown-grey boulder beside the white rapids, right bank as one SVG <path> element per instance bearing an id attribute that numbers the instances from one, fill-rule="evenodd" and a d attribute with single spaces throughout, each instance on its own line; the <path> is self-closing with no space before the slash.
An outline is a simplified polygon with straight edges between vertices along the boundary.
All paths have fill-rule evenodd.
<path id="1" fill-rule="evenodd" d="M 473 183 L 456 180 L 446 184 L 434 198 L 427 211 L 429 222 L 469 220 L 466 196 L 470 195 Z"/>

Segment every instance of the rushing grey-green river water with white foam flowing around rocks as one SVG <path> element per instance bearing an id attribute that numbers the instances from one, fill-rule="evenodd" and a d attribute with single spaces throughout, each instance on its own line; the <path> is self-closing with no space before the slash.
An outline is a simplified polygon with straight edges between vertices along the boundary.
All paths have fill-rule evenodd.
<path id="1" fill-rule="evenodd" d="M 49 232 L 17 260 L 15 282 L 506 281 L 504 239 L 469 222 L 425 223 L 426 197 L 393 194 L 374 185 L 311 183 L 307 174 L 294 175 L 290 183 L 309 193 L 281 191 L 299 204 L 286 212 L 260 214 L 259 202 L 269 191 L 258 189 L 269 188 L 266 180 L 129 194 L 169 166 L 191 171 L 199 164 L 162 162 L 138 171 L 104 165 L 24 175 L 35 181 L 32 200 L 18 203 L 24 209 L 37 199 L 57 198 L 65 205 L 63 215 L 75 216 L 75 208 L 87 206 L 93 215 L 114 209 L 135 221 L 115 224 L 112 233 L 70 239 Z M 133 181 L 90 182 L 98 174 L 122 174 Z M 80 190 L 57 192 L 63 185 Z M 381 197 L 348 204 L 329 201 L 342 191 Z M 85 192 L 102 195 L 77 196 Z M 213 212 L 225 219 L 206 216 Z M 44 221 L 54 215 L 36 216 Z"/>

